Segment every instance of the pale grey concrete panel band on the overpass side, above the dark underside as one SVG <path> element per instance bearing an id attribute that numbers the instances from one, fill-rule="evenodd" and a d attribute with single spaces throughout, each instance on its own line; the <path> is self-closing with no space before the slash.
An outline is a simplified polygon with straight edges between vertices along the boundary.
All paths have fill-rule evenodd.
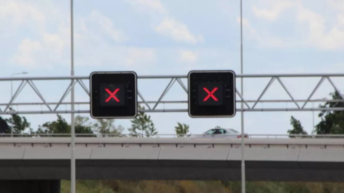
<path id="1" fill-rule="evenodd" d="M 215 147 L 76 147 L 82 160 L 218 160 L 239 161 L 241 149 L 228 145 Z M 71 159 L 66 147 L 0 147 L 0 160 Z M 344 148 L 261 148 L 246 147 L 245 160 L 284 162 L 344 162 Z"/>

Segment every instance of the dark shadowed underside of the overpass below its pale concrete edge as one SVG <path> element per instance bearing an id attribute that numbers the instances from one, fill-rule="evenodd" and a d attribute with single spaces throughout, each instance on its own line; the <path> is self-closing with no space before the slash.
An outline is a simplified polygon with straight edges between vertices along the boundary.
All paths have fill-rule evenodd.
<path id="1" fill-rule="evenodd" d="M 0 180 L 70 179 L 70 160 L 1 160 L 0 166 L 6 166 L 0 167 Z M 80 180 L 239 181 L 241 179 L 240 161 L 76 160 L 76 166 L 76 178 Z M 344 163 L 246 161 L 246 179 L 248 181 L 343 182 Z M 0 190 L 0 192 L 4 191 Z"/>

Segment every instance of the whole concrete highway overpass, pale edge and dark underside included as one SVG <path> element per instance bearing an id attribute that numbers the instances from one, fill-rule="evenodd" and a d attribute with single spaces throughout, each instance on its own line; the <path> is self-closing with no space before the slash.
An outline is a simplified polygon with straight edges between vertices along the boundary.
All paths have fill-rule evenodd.
<path id="1" fill-rule="evenodd" d="M 344 181 L 343 139 L 245 139 L 248 181 Z M 0 138 L 0 180 L 70 178 L 68 137 Z M 76 138 L 77 179 L 240 180 L 240 139 Z"/>

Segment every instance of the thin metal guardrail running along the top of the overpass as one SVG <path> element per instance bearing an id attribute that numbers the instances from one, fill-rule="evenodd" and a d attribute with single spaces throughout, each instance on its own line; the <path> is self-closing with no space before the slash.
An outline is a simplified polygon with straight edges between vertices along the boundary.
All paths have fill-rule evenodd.
<path id="1" fill-rule="evenodd" d="M 202 134 L 158 134 L 148 136 L 145 134 L 88 134 L 78 133 L 75 137 L 139 137 L 139 138 L 178 138 L 189 136 L 203 136 Z M 237 137 L 238 135 L 227 135 L 228 137 Z M 0 137 L 11 137 L 11 134 L 0 134 Z M 71 137 L 68 133 L 43 133 L 43 134 L 13 134 L 13 137 Z M 344 138 L 344 134 L 318 134 L 318 135 L 288 135 L 288 134 L 249 134 L 248 138 Z"/>

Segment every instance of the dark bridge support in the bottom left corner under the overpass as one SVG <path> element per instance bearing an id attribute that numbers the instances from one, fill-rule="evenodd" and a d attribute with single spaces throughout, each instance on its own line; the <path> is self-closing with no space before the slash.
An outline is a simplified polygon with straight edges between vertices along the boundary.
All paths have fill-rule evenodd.
<path id="1" fill-rule="evenodd" d="M 0 180 L 1 193 L 60 193 L 60 180 Z"/>

